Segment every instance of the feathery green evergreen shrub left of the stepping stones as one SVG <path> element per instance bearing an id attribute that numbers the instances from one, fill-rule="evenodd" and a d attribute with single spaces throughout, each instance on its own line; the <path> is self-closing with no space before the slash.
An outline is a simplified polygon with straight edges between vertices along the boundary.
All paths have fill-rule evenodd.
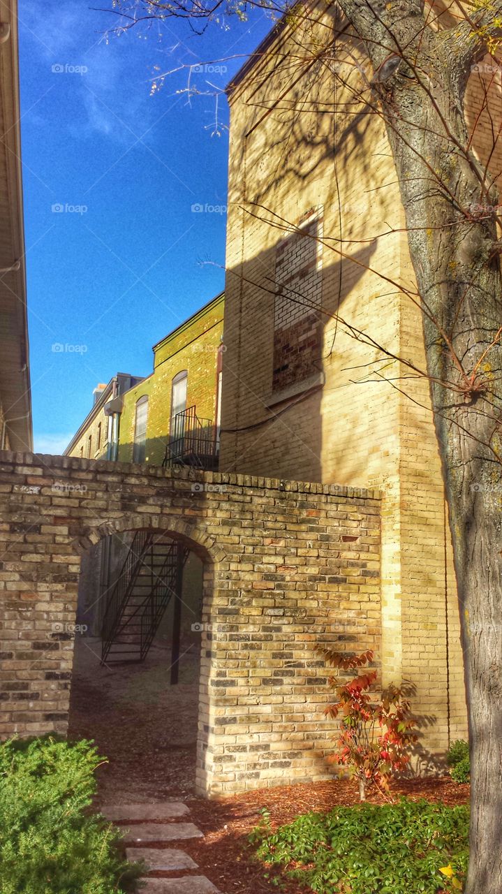
<path id="1" fill-rule="evenodd" d="M 85 810 L 101 763 L 87 741 L 0 746 L 1 894 L 113 894 L 137 874 L 117 833 Z"/>

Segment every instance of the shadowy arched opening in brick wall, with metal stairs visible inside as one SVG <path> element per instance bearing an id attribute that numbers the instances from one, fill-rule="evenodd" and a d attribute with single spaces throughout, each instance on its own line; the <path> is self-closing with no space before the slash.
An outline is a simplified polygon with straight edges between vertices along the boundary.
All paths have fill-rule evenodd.
<path id="1" fill-rule="evenodd" d="M 205 755 L 213 562 L 186 526 L 111 527 L 81 556 L 69 736 L 94 739 L 108 759 L 105 801 L 186 797 Z"/>

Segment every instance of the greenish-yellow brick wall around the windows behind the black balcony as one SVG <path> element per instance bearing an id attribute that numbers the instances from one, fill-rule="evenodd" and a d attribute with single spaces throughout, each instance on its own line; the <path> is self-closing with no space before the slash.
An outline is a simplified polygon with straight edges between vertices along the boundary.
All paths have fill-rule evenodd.
<path id="1" fill-rule="evenodd" d="M 172 379 L 183 369 L 188 370 L 187 406 L 195 404 L 197 416 L 214 420 L 223 303 L 223 296 L 217 296 L 155 345 L 154 372 L 124 395 L 119 443 L 121 462 L 132 460 L 136 403 L 146 394 L 146 462 L 162 463 L 171 423 Z"/>

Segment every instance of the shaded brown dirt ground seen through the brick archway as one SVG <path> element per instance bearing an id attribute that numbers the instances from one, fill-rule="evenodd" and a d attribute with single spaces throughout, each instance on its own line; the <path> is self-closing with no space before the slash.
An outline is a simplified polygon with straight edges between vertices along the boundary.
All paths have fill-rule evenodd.
<path id="1" fill-rule="evenodd" d="M 70 738 L 92 738 L 108 763 L 97 772 L 99 803 L 193 796 L 199 656 L 183 654 L 170 685 L 171 648 L 155 642 L 141 664 L 100 667 L 99 639 L 75 643 Z"/>

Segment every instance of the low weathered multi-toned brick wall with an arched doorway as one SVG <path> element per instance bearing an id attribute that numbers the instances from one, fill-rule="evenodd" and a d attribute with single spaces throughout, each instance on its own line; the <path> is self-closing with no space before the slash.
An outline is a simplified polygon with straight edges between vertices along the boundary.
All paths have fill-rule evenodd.
<path id="1" fill-rule="evenodd" d="M 327 775 L 314 645 L 379 652 L 379 493 L 3 452 L 0 510 L 1 735 L 66 730 L 79 554 L 147 527 L 211 576 L 198 790 Z"/>

